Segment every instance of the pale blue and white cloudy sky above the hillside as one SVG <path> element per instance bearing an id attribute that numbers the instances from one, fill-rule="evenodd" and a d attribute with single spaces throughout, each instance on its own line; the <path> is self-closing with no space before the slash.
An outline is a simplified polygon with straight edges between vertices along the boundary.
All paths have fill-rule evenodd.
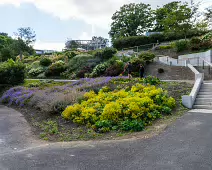
<path id="1" fill-rule="evenodd" d="M 142 2 L 156 8 L 171 1 L 0 0 L 0 32 L 13 36 L 18 28 L 31 27 L 36 32 L 35 49 L 60 51 L 68 39 L 109 38 L 111 17 L 124 4 Z M 212 5 L 212 0 L 202 1 L 201 9 Z"/>

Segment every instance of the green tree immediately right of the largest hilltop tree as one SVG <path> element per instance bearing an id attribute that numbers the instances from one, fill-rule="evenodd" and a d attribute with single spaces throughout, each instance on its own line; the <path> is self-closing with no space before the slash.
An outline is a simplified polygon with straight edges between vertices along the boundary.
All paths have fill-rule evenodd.
<path id="1" fill-rule="evenodd" d="M 183 33 L 185 38 L 193 28 L 197 6 L 188 6 L 188 3 L 174 1 L 158 8 L 155 11 L 155 31 Z"/>

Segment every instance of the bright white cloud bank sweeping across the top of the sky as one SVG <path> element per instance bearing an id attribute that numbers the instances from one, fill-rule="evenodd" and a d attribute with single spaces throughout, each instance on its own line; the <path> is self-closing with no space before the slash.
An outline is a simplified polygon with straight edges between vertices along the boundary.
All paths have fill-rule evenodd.
<path id="1" fill-rule="evenodd" d="M 173 0 L 143 0 L 153 7 L 166 4 Z M 190 2 L 190 0 L 187 0 Z M 195 0 L 196 2 L 198 0 Z M 203 0 L 204 5 L 212 4 L 210 0 Z M 116 10 L 127 3 L 141 2 L 140 0 L 0 0 L 1 4 L 20 6 L 21 3 L 32 3 L 38 9 L 59 17 L 61 20 L 80 19 L 88 24 L 109 29 L 111 17 Z"/>

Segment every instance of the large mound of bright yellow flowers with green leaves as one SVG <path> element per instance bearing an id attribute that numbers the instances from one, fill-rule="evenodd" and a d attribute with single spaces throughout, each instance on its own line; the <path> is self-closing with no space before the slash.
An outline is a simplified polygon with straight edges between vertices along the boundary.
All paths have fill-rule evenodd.
<path id="1" fill-rule="evenodd" d="M 112 129 L 142 130 L 163 114 L 171 114 L 175 100 L 155 86 L 136 84 L 130 90 L 109 92 L 107 87 L 98 94 L 90 91 L 81 104 L 69 106 L 62 113 L 65 119 L 91 126 L 100 132 Z"/>

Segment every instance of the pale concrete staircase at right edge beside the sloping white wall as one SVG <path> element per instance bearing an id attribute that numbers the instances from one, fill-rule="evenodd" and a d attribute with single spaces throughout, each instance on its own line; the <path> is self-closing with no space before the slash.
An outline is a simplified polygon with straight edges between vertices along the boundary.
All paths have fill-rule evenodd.
<path id="1" fill-rule="evenodd" d="M 212 110 L 212 82 L 202 84 L 193 108 Z"/>

